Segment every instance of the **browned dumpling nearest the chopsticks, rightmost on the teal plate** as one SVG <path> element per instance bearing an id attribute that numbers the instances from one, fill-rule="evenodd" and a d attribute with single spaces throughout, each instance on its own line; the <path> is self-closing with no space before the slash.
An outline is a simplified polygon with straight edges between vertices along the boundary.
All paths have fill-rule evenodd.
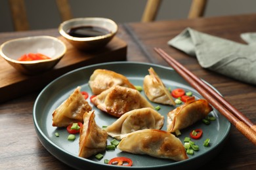
<path id="1" fill-rule="evenodd" d="M 205 99 L 196 100 L 190 97 L 184 105 L 171 110 L 167 114 L 167 131 L 175 132 L 202 120 L 213 108 Z"/>

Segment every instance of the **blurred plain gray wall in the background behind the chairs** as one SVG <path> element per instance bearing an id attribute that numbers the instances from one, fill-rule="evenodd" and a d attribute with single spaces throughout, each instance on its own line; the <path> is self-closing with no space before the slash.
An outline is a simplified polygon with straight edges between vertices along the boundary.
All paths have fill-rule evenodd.
<path id="1" fill-rule="evenodd" d="M 58 27 L 60 16 L 54 0 L 25 0 L 30 29 Z M 179 20 L 188 16 L 190 0 L 163 0 L 156 20 Z M 70 0 L 78 17 L 106 17 L 117 23 L 140 22 L 146 0 Z M 205 17 L 256 12 L 255 0 L 208 0 Z M 0 32 L 13 31 L 8 0 L 0 1 Z"/>

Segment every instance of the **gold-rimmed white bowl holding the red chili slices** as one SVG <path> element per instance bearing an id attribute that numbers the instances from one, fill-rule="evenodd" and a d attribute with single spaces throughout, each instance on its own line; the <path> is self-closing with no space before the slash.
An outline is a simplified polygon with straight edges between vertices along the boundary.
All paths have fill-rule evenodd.
<path id="1" fill-rule="evenodd" d="M 18 61 L 24 54 L 41 53 L 51 59 Z M 16 70 L 35 75 L 52 69 L 66 53 L 66 45 L 56 37 L 34 36 L 12 39 L 0 46 L 0 55 Z"/>

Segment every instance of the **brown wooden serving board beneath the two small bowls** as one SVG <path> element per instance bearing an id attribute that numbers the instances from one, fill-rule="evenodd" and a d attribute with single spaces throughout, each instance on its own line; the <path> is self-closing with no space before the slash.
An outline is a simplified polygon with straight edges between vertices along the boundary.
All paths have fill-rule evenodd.
<path id="1" fill-rule="evenodd" d="M 53 69 L 40 75 L 24 75 L 16 71 L 5 59 L 0 58 L 0 103 L 41 90 L 58 76 L 79 67 L 126 60 L 127 43 L 118 37 L 114 37 L 104 48 L 95 52 L 82 52 L 63 37 L 58 38 L 66 44 L 66 54 Z"/>

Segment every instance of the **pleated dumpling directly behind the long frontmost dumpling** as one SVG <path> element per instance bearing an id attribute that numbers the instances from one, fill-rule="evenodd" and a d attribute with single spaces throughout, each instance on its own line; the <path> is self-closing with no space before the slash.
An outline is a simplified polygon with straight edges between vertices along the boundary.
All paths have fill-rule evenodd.
<path id="1" fill-rule="evenodd" d="M 149 107 L 135 109 L 123 114 L 106 128 L 108 135 L 120 140 L 128 133 L 140 129 L 161 129 L 164 117 Z"/>

